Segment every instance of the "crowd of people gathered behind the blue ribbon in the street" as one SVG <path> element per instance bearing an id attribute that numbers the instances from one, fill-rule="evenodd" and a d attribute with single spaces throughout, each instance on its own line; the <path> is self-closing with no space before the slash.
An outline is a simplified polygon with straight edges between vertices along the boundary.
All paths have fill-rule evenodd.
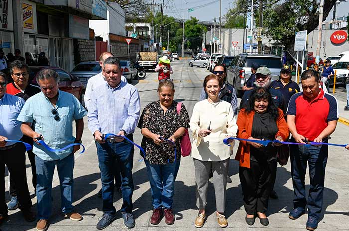
<path id="1" fill-rule="evenodd" d="M 8 217 L 8 209 L 19 207 L 28 222 L 38 219 L 36 229 L 48 229 L 52 214 L 52 178 L 57 166 L 61 187 L 61 211 L 72 221 L 82 216 L 72 205 L 74 196 L 74 153 L 79 146 L 54 152 L 40 145 L 43 140 L 53 149 L 69 144 L 81 144 L 84 121 L 94 136 L 98 165 L 101 172 L 103 216 L 97 229 L 108 227 L 116 218 L 113 206 L 114 192 L 122 195 L 121 213 L 127 228 L 135 226 L 132 215 L 132 178 L 136 127 L 143 135 L 140 155 L 144 158 L 152 195 L 151 224 L 174 224 L 174 183 L 180 167 L 183 135 L 192 132 L 191 157 L 196 182 L 198 214 L 195 227 L 203 227 L 207 218 L 208 182 L 214 185 L 216 218 L 220 227 L 227 227 L 225 218 L 226 186 L 234 141 L 239 142 L 235 159 L 239 161 L 239 177 L 243 192 L 245 221 L 253 225 L 256 218 L 268 226 L 266 215 L 269 197 L 277 197 L 273 190 L 280 148 L 290 141 L 299 145 L 286 146 L 290 155 L 294 188 L 293 210 L 290 219 L 297 219 L 308 209 L 306 228 L 315 230 L 322 210 L 324 175 L 328 156 L 329 135 L 335 130 L 339 118 L 336 99 L 320 88 L 316 71 L 306 70 L 301 75 L 301 88 L 291 80 L 291 69 L 284 66 L 280 79 L 271 81 L 267 67 L 255 69 L 252 83 L 246 88 L 238 113 L 236 91 L 226 83 L 226 68 L 216 65 L 213 74 L 205 77 L 200 100 L 195 104 L 191 118 L 184 104 L 174 101 L 173 80 L 164 71 L 159 79 L 159 99 L 147 104 L 141 113 L 137 89 L 122 76 L 120 61 L 110 52 L 100 56 L 102 72 L 89 79 L 85 94 L 88 112 L 71 94 L 58 89 L 58 74 L 51 69 L 42 70 L 37 82 L 29 83 L 28 65 L 14 61 L 6 81 L 0 72 L 0 223 Z M 167 64 L 163 58 L 161 65 Z M 165 64 L 164 64 L 165 63 Z M 171 70 L 171 69 L 170 69 Z M 309 123 L 309 117 L 312 123 Z M 76 134 L 73 135 L 75 120 Z M 291 133 L 291 138 L 290 138 Z M 111 135 L 107 135 L 111 134 Z M 228 144 L 224 139 L 228 138 Z M 31 200 L 26 182 L 25 147 L 21 140 L 33 145 L 28 152 L 32 167 L 33 186 L 36 189 L 37 216 L 31 211 Z M 260 141 L 271 140 L 268 145 Z M 304 145 L 309 142 L 319 145 Z M 349 146 L 346 147 L 349 149 Z M 305 173 L 309 166 L 310 188 L 306 198 Z M 10 172 L 14 207 L 5 203 L 4 168 Z M 115 183 L 114 183 L 115 182 Z M 11 202 L 10 202 L 11 203 Z"/>

